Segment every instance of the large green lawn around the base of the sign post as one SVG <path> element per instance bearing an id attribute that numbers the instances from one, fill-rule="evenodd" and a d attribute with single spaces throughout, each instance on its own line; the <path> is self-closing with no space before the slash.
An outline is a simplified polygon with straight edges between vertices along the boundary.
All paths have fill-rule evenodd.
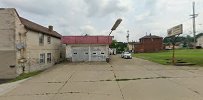
<path id="1" fill-rule="evenodd" d="M 171 61 L 172 58 L 172 50 L 157 53 L 137 53 L 133 56 L 160 64 L 168 64 L 167 62 Z M 176 60 L 181 60 L 183 62 L 194 63 L 196 65 L 203 66 L 203 49 L 175 50 L 175 58 Z"/>

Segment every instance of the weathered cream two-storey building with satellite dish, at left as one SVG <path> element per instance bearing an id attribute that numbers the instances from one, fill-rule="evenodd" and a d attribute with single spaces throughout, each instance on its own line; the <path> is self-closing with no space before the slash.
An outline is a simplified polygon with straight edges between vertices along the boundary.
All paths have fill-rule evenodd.
<path id="1" fill-rule="evenodd" d="M 60 61 L 61 35 L 0 8 L 0 79 L 42 70 Z"/>

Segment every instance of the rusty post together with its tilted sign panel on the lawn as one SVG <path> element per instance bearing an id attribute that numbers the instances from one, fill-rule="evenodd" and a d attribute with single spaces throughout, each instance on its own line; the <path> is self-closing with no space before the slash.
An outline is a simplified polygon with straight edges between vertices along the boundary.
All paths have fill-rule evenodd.
<path id="1" fill-rule="evenodd" d="M 168 37 L 172 39 L 172 45 L 173 45 L 173 54 L 172 54 L 172 63 L 176 64 L 175 59 L 175 44 L 177 37 L 183 33 L 183 25 L 177 25 L 167 30 Z M 177 36 L 177 37 L 176 37 Z"/>

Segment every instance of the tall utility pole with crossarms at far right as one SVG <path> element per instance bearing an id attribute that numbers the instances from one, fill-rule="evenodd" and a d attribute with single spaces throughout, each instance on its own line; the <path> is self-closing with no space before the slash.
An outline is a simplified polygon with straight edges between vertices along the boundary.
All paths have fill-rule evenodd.
<path id="1" fill-rule="evenodd" d="M 193 1 L 193 3 L 192 3 L 192 11 L 193 11 L 193 14 L 192 15 L 190 15 L 190 16 L 192 16 L 192 19 L 193 19 L 193 35 L 194 35 L 194 44 L 193 44 L 193 46 L 194 46 L 194 48 L 195 48 L 195 46 L 196 46 L 196 17 L 198 16 L 198 14 L 196 14 L 195 13 L 195 2 Z"/>

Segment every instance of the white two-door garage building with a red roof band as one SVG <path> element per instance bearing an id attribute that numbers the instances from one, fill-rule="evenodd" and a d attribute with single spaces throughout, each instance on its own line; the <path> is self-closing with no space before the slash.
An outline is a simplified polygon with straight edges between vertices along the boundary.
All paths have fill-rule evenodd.
<path id="1" fill-rule="evenodd" d="M 66 58 L 72 62 L 106 61 L 112 36 L 63 36 Z"/>

